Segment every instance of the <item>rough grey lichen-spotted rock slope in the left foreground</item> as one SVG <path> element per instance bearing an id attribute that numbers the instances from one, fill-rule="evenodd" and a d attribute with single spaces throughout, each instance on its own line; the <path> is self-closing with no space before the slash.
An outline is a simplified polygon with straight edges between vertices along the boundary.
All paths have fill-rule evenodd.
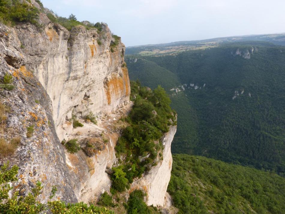
<path id="1" fill-rule="evenodd" d="M 1 125 L 1 138 L 7 143 L 20 138 L 15 154 L 1 157 L 0 161 L 10 160 L 10 164 L 19 166 L 15 190 L 20 195 L 27 194 L 29 188 L 41 181 L 44 185 L 42 201 L 48 200 L 55 185 L 58 188 L 56 197 L 75 202 L 77 198 L 69 182 L 71 176 L 64 150 L 55 132 L 51 101 L 35 75 L 25 69 L 20 45 L 14 29 L 0 23 L 0 79 L 5 74 L 12 75 L 15 87 L 10 91 L 0 89 L 1 103 L 9 109 L 6 125 Z M 27 136 L 28 127 L 34 129 L 31 137 Z"/>

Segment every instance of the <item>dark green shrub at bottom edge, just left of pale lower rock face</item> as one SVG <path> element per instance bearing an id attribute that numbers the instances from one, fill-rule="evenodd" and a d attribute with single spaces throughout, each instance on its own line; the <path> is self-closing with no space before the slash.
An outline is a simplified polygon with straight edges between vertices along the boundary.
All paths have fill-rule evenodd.
<path id="1" fill-rule="evenodd" d="M 128 200 L 127 212 L 128 214 L 140 213 L 140 214 L 150 214 L 151 211 L 146 203 L 143 201 L 145 194 L 141 190 L 134 190 L 130 194 Z"/>

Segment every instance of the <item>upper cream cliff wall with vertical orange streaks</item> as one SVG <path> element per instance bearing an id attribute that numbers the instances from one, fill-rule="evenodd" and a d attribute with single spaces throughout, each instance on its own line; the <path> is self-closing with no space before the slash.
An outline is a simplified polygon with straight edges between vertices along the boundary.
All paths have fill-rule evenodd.
<path id="1" fill-rule="evenodd" d="M 125 46 L 119 42 L 111 51 L 115 39 L 106 25 L 101 32 L 84 26 L 69 32 L 48 23 L 38 32 L 23 24 L 16 32 L 25 46 L 26 69 L 34 72 L 52 100 L 60 140 L 72 129 L 66 117 L 84 117 L 90 111 L 100 115 L 128 104 L 128 70 L 122 67 Z"/>

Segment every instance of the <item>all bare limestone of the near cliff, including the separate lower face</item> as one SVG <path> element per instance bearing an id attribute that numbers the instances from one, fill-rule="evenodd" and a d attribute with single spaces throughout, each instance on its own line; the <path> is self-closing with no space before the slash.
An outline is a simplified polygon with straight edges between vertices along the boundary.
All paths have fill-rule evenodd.
<path id="1" fill-rule="evenodd" d="M 49 199 L 53 185 L 58 199 L 93 201 L 110 191 L 106 172 L 118 162 L 114 148 L 122 128 L 119 118 L 132 105 L 125 46 L 104 24 L 100 32 L 84 26 L 68 31 L 45 14 L 39 15 L 39 23 L 42 29 L 0 23 L 0 78 L 12 75 L 14 85 L 12 90 L 0 89 L 1 103 L 9 108 L 1 138 L 21 138 L 15 153 L 1 158 L 1 164 L 10 160 L 19 166 L 15 190 L 20 195 L 41 181 L 42 202 Z M 85 120 L 91 112 L 97 124 Z M 73 128 L 74 118 L 84 126 Z M 175 132 L 173 126 L 164 135 L 163 160 L 131 184 L 129 193 L 143 189 L 148 205 L 171 205 L 164 201 L 171 200 L 166 190 Z M 69 153 L 61 144 L 70 139 L 78 140 L 79 152 Z"/>

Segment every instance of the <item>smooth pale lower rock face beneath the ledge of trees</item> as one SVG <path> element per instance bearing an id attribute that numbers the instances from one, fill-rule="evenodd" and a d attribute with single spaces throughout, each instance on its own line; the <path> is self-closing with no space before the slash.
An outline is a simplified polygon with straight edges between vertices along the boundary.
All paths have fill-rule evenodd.
<path id="1" fill-rule="evenodd" d="M 171 203 L 165 203 L 167 186 L 170 181 L 172 169 L 171 142 L 176 133 L 176 126 L 171 126 L 169 132 L 163 137 L 163 160 L 145 173 L 140 179 L 135 179 L 131 185 L 131 191 L 142 189 L 147 192 L 147 205 L 168 207 Z M 169 198 L 169 197 L 167 197 Z"/>

